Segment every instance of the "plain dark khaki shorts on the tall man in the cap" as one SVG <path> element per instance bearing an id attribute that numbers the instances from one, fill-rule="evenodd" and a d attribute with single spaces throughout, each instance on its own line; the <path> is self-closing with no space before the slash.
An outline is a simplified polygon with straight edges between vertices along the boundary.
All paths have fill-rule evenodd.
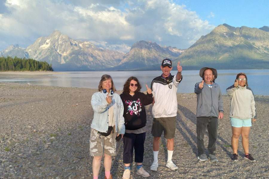
<path id="1" fill-rule="evenodd" d="M 161 137 L 164 133 L 164 138 L 172 139 L 175 137 L 176 116 L 169 118 L 153 118 L 151 134 L 154 137 Z"/>

